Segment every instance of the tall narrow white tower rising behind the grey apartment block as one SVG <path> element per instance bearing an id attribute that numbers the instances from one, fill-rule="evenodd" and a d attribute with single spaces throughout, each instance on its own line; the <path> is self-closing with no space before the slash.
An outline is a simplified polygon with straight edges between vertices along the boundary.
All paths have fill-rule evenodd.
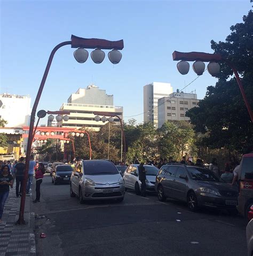
<path id="1" fill-rule="evenodd" d="M 144 93 L 144 122 L 152 122 L 158 127 L 158 100 L 164 96 L 169 96 L 173 88 L 167 82 L 152 82 L 143 87 Z"/>

